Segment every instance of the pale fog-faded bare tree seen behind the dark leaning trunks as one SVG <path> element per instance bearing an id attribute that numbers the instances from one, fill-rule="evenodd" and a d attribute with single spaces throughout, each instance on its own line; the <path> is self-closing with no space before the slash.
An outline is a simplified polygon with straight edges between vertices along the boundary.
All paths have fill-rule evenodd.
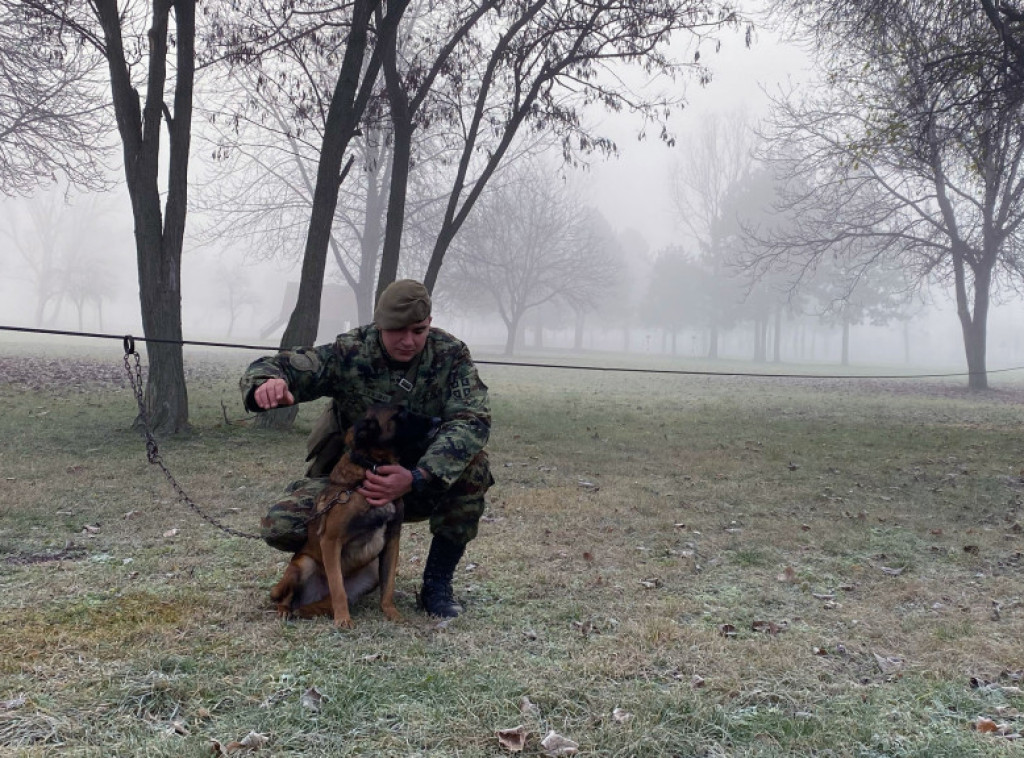
<path id="1" fill-rule="evenodd" d="M 309 57 L 305 71 L 311 74 L 314 65 L 322 70 L 311 76 L 310 86 L 321 88 L 327 79 L 323 68 L 329 64 Z M 325 113 L 289 102 L 281 79 L 240 69 L 221 81 L 220 92 L 203 109 L 208 123 L 200 139 L 210 146 L 205 163 L 211 180 L 197 193 L 199 237 L 204 243 L 229 239 L 234 245 L 247 244 L 247 257 L 257 261 L 299 259 L 315 190 Z M 230 102 L 225 102 L 224 91 L 230 92 Z M 322 90 L 319 96 L 326 100 L 329 92 Z M 337 275 L 355 293 L 364 323 L 373 312 L 390 151 L 388 133 L 365 119 L 350 144 L 351 168 L 339 187 L 329 237 Z"/>

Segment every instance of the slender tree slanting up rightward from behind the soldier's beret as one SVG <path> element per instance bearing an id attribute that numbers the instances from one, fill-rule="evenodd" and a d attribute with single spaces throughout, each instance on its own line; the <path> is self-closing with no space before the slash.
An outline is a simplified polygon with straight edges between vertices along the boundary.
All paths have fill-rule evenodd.
<path id="1" fill-rule="evenodd" d="M 688 69 L 707 81 L 707 70 L 695 62 L 699 54 L 686 64 L 674 59 L 670 40 L 683 33 L 699 43 L 739 23 L 715 0 L 517 0 L 498 9 L 485 34 L 470 40 L 476 55 L 452 72 L 453 86 L 445 90 L 461 125 L 462 150 L 424 277 L 431 289 L 449 247 L 524 125 L 556 134 L 567 160 L 580 152 L 615 152 L 610 139 L 587 126 L 583 113 L 593 104 L 628 109 L 671 142 L 663 119 L 682 101 L 678 90 L 645 97 L 613 67 L 635 66 L 670 79 Z"/>

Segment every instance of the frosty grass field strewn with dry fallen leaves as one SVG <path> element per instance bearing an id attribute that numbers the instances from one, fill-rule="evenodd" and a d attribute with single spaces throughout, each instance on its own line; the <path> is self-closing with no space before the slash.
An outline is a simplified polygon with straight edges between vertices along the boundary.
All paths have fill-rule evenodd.
<path id="1" fill-rule="evenodd" d="M 252 532 L 318 406 L 253 429 L 248 360 L 189 362 L 195 430 L 160 452 Z M 550 731 L 581 756 L 1021 755 L 1024 389 L 481 373 L 498 485 L 466 613 L 416 610 L 411 524 L 402 623 L 366 602 L 340 633 L 278 620 L 288 556 L 146 462 L 119 350 L 0 349 L 0 755 L 257 732 L 254 755 L 475 758 L 517 726 L 525 756 Z"/>

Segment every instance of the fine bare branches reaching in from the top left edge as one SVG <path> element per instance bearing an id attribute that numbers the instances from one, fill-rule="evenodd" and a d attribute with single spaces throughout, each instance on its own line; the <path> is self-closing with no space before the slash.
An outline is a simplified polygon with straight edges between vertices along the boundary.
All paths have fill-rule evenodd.
<path id="1" fill-rule="evenodd" d="M 57 176 L 103 188 L 114 124 L 98 59 L 19 0 L 0 2 L 0 194 Z"/>

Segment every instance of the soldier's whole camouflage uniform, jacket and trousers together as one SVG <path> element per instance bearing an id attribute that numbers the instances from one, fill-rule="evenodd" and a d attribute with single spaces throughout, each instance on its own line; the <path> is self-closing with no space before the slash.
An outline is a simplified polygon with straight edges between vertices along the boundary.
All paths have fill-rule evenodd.
<path id="1" fill-rule="evenodd" d="M 437 435 L 407 467 L 430 474 L 427 487 L 409 493 L 406 520 L 430 519 L 430 532 L 465 545 L 476 537 L 484 493 L 494 483 L 483 447 L 490 433 L 487 387 L 480 381 L 469 348 L 446 332 L 431 328 L 419 357 L 396 365 L 384 351 L 380 332 L 370 325 L 341 334 L 333 344 L 283 350 L 259 359 L 240 386 L 249 411 L 259 411 L 253 393 L 267 379 L 282 378 L 296 403 L 329 396 L 337 429 L 347 429 L 374 403 L 400 403 L 441 420 Z M 402 380 L 408 392 L 395 394 Z M 408 386 L 408 385 L 407 385 Z M 314 431 L 316 434 L 316 431 Z M 310 438 L 314 458 L 323 439 Z M 340 453 L 339 453 L 340 454 Z M 297 550 L 305 540 L 304 520 L 327 486 L 333 461 L 314 460 L 307 478 L 293 482 L 288 495 L 263 519 L 263 537 L 281 550 Z"/>

